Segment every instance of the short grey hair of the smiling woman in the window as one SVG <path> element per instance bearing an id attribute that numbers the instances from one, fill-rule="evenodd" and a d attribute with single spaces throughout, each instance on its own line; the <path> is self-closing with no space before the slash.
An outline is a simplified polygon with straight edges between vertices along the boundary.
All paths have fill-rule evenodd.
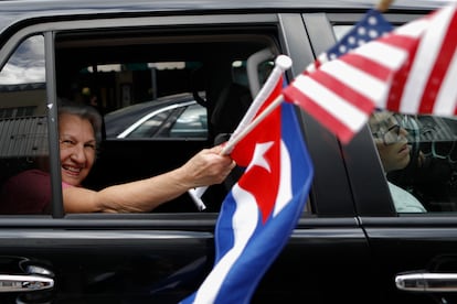
<path id="1" fill-rule="evenodd" d="M 57 102 L 59 116 L 62 113 L 75 115 L 83 119 L 87 119 L 94 129 L 97 146 L 102 143 L 102 116 L 98 111 L 88 105 L 74 102 L 68 99 L 60 99 Z"/>

